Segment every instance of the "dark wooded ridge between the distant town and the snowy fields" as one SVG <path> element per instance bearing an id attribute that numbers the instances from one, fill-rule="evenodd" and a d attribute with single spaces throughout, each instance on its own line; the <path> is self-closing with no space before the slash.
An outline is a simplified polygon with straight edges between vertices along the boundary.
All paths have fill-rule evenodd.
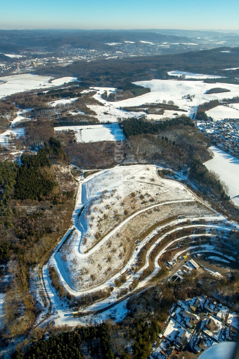
<path id="1" fill-rule="evenodd" d="M 172 79 L 168 71 L 226 76 L 217 82 L 238 83 L 239 70 L 223 70 L 239 67 L 239 47 L 220 47 L 211 50 L 189 51 L 170 55 L 151 55 L 76 61 L 68 66 L 44 66 L 35 73 L 51 76 L 77 76 L 81 85 L 120 87 L 128 82 Z M 210 82 L 214 80 L 211 79 Z"/>

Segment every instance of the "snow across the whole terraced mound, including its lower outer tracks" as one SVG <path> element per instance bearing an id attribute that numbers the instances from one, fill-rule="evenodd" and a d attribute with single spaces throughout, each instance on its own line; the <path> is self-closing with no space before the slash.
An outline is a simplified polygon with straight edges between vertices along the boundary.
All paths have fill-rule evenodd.
<path id="1" fill-rule="evenodd" d="M 184 227 L 195 227 L 195 228 L 200 228 L 200 227 L 205 227 L 207 230 L 209 230 L 210 228 L 213 228 L 215 230 L 221 231 L 221 230 L 227 230 L 230 231 L 232 228 L 234 228 L 235 224 L 231 223 L 229 225 L 226 224 L 220 224 L 223 221 L 226 221 L 225 217 L 218 215 L 217 213 L 215 213 L 215 211 L 210 210 L 209 208 L 205 207 L 205 206 L 200 206 L 198 202 L 195 202 L 196 198 L 192 201 L 192 200 L 177 200 L 177 201 L 173 201 L 171 202 L 171 205 L 173 205 L 174 207 L 172 207 L 173 209 L 173 214 L 175 215 L 179 215 L 179 212 L 177 210 L 177 206 L 180 205 L 179 202 L 181 202 L 181 205 L 184 202 L 184 213 L 185 213 L 185 218 L 178 218 L 176 220 L 173 220 L 169 223 L 165 223 L 163 225 L 159 225 L 159 227 L 156 227 L 155 229 L 153 229 L 153 231 L 151 233 L 149 233 L 140 243 L 136 244 L 135 243 L 135 239 L 133 238 L 133 236 L 131 236 L 130 238 L 133 238 L 133 246 L 137 248 L 135 248 L 132 252 L 132 255 L 130 258 L 118 258 L 120 259 L 120 261 L 117 262 L 117 266 L 116 266 L 116 270 L 112 271 L 112 267 L 115 266 L 115 257 L 117 257 L 117 247 L 119 247 L 119 249 L 121 249 L 120 247 L 122 246 L 122 244 L 118 245 L 118 241 L 121 240 L 123 242 L 122 239 L 120 239 L 118 236 L 114 236 L 114 233 L 117 234 L 119 233 L 120 236 L 124 236 L 124 229 L 123 229 L 123 225 L 127 224 L 127 228 L 130 228 L 131 225 L 131 220 L 134 220 L 138 215 L 144 214 L 144 212 L 146 211 L 147 213 L 145 213 L 145 216 L 140 220 L 140 224 L 137 224 L 137 226 L 135 227 L 136 230 L 136 235 L 140 236 L 140 231 L 141 231 L 141 227 L 145 226 L 145 224 L 147 225 L 146 219 L 149 220 L 150 224 L 153 225 L 154 222 L 150 219 L 150 216 L 154 215 L 153 211 L 155 208 L 159 207 L 159 211 L 156 212 L 156 215 L 159 217 L 160 215 L 164 216 L 165 210 L 168 211 L 168 205 L 165 203 L 159 203 L 156 205 L 152 205 L 149 209 L 145 208 L 142 209 L 140 211 L 140 213 L 133 213 L 132 215 L 129 215 L 125 220 L 119 220 L 120 224 L 118 224 L 116 227 L 114 225 L 114 223 L 112 222 L 112 219 L 114 218 L 114 221 L 118 220 L 118 216 L 120 215 L 120 213 L 118 212 L 116 218 L 115 218 L 115 213 L 113 214 L 113 216 L 107 216 L 108 212 L 106 211 L 106 209 L 112 209 L 112 211 L 114 212 L 114 199 L 117 199 L 118 202 L 118 207 L 121 208 L 123 205 L 123 202 L 126 201 L 126 198 L 122 198 L 122 195 L 124 194 L 125 196 L 127 195 L 127 192 L 131 192 L 132 189 L 131 188 L 127 188 L 128 186 L 130 186 L 130 183 L 137 183 L 138 187 L 135 187 L 134 192 L 136 193 L 136 196 L 138 196 L 138 194 L 143 194 L 144 195 L 144 191 L 142 191 L 140 185 L 145 184 L 147 191 L 150 192 L 150 184 L 152 183 L 151 186 L 158 186 L 161 187 L 164 185 L 168 185 L 169 187 L 171 187 L 172 185 L 176 186 L 173 189 L 171 189 L 171 193 L 167 192 L 170 196 L 173 195 L 173 191 L 179 191 L 181 190 L 181 188 L 179 188 L 179 186 L 181 186 L 180 183 L 176 182 L 176 181 L 170 181 L 170 180 L 165 180 L 165 179 L 160 179 L 159 183 L 155 183 L 156 181 L 150 181 L 151 178 L 155 178 L 153 173 L 150 171 L 147 171 L 147 167 L 151 167 L 152 169 L 155 168 L 154 166 L 142 166 L 142 165 L 134 165 L 134 166 L 127 166 L 127 167 L 120 167 L 117 166 L 113 169 L 108 169 L 108 170 L 102 170 L 100 172 L 96 172 L 94 174 L 92 174 L 91 176 L 85 178 L 85 180 L 82 182 L 80 182 L 79 184 L 79 189 L 76 195 L 76 207 L 75 207 L 75 211 L 73 213 L 72 216 L 72 220 L 73 220 L 73 225 L 71 227 L 72 228 L 76 228 L 74 234 L 76 233 L 76 236 L 74 237 L 74 235 L 71 236 L 71 238 L 68 239 L 67 243 L 64 244 L 64 246 L 60 249 L 61 244 L 64 242 L 64 240 L 66 239 L 67 234 L 69 234 L 69 231 L 65 234 L 65 236 L 62 238 L 61 242 L 58 244 L 58 246 L 55 248 L 49 264 L 53 265 L 55 267 L 55 269 L 57 270 L 57 273 L 59 275 L 59 279 L 62 283 L 62 285 L 64 285 L 64 288 L 67 292 L 71 293 L 72 295 L 75 295 L 76 297 L 79 297 L 80 295 L 83 295 L 85 293 L 93 293 L 94 291 L 100 291 L 100 290 L 105 290 L 106 288 L 109 288 L 110 286 L 114 288 L 113 292 L 109 295 L 109 297 L 107 297 L 104 300 L 101 300 L 100 302 L 96 302 L 94 304 L 92 304 L 90 307 L 85 308 L 84 312 L 88 311 L 97 311 L 99 309 L 103 309 L 106 308 L 107 306 L 109 306 L 109 304 L 113 304 L 117 299 L 118 299 L 118 294 L 120 294 L 122 289 L 127 289 L 129 290 L 129 286 L 132 284 L 133 279 L 139 279 L 140 275 L 142 274 L 142 271 L 144 271 L 148 266 L 149 266 L 149 256 L 150 253 L 153 251 L 153 249 L 155 248 L 155 246 L 157 246 L 159 244 L 159 242 L 165 237 L 167 236 L 167 233 L 173 233 L 178 231 L 179 237 L 180 237 L 180 230 Z M 156 168 L 155 168 L 156 169 Z M 117 173 L 116 176 L 112 176 L 112 171 L 116 171 Z M 122 173 L 121 173 L 122 171 Z M 156 173 L 154 173 L 156 175 Z M 121 188 L 122 185 L 121 183 L 125 181 L 125 186 L 124 188 Z M 150 182 L 151 183 L 150 183 Z M 142 182 L 142 183 L 141 183 Z M 107 186 L 106 186 L 107 184 Z M 128 186 L 127 186 L 128 184 Z M 184 187 L 184 186 L 183 186 Z M 114 192 L 113 190 L 117 188 L 119 193 Z M 185 188 L 185 187 L 184 187 Z M 169 188 L 168 188 L 169 189 Z M 163 188 L 159 188 L 161 195 L 165 195 L 164 189 Z M 183 190 L 183 188 L 182 188 Z M 185 195 L 188 195 L 188 191 L 185 188 Z M 179 194 L 178 192 L 178 194 Z M 111 196 L 113 195 L 113 196 Z M 91 213 L 88 213 L 88 204 L 95 199 L 95 196 L 97 196 L 100 200 L 100 202 L 94 202 L 94 205 L 97 204 L 97 206 L 95 206 L 95 208 L 91 209 Z M 131 196 L 131 198 L 134 196 Z M 146 198 L 146 197 L 145 197 Z M 98 201 L 98 200 L 97 200 Z M 108 201 L 108 205 L 105 209 L 106 206 L 106 202 Z M 111 204 L 111 201 L 112 204 Z M 137 202 L 135 202 L 137 204 Z M 168 202 L 170 203 L 170 202 Z M 111 205 L 110 205 L 111 204 Z M 81 211 L 82 206 L 85 206 L 84 211 Z M 161 207 L 160 207 L 161 206 Z M 161 210 L 161 208 L 163 210 Z M 136 208 L 137 209 L 137 208 Z M 185 211 L 186 209 L 186 211 Z M 103 210 L 103 212 L 102 212 Z M 97 213 L 94 213 L 94 211 L 97 211 Z M 79 217 L 79 213 L 81 213 L 80 217 Z M 86 243 L 81 243 L 81 232 L 85 231 L 86 226 L 92 224 L 93 228 L 91 228 L 91 230 L 94 229 L 94 219 L 91 219 L 87 222 L 84 217 L 85 216 L 92 216 L 95 214 L 98 214 L 98 218 L 100 219 L 100 222 L 104 221 L 104 214 L 106 214 L 106 222 L 107 222 L 107 218 L 108 220 L 110 220 L 109 223 L 107 223 L 107 228 L 106 230 L 108 230 L 108 232 L 106 232 L 106 234 L 103 233 L 103 238 L 100 239 L 98 242 L 94 242 L 92 243 L 92 245 L 90 246 L 90 248 L 88 247 L 88 250 L 84 252 L 84 248 L 83 247 L 87 247 Z M 101 218 L 101 216 L 103 215 L 103 217 Z M 170 215 L 167 213 L 165 213 L 166 217 L 169 218 Z M 201 217 L 200 217 L 200 216 Z M 201 220 L 205 220 L 207 224 L 200 224 Z M 189 225 L 185 225 L 185 222 L 187 220 L 190 221 L 198 221 L 198 224 L 189 224 Z M 219 222 L 219 224 L 215 224 L 215 222 Z M 233 225 L 233 227 L 232 227 Z M 229 227 L 230 226 L 230 227 Z M 177 228 L 175 228 L 177 227 Z M 148 227 L 146 227 L 148 228 Z M 134 266 L 136 260 L 137 260 L 137 254 L 139 253 L 139 251 L 141 250 L 141 248 L 145 245 L 145 243 L 147 243 L 150 238 L 152 238 L 156 233 L 158 233 L 159 230 L 162 230 L 163 228 L 173 228 L 171 230 L 167 230 L 167 233 L 164 233 L 162 236 L 160 236 L 155 243 L 153 243 L 151 245 L 151 247 L 149 248 L 149 250 L 146 253 L 145 256 L 145 265 L 138 270 L 136 273 L 132 273 L 132 267 Z M 211 233 L 205 233 L 205 236 L 215 236 L 212 235 Z M 200 236 L 200 234 L 193 234 L 189 237 L 198 237 Z M 110 239 L 112 238 L 112 241 L 110 241 Z M 123 237 L 122 237 L 123 238 Z M 187 236 L 178 238 L 178 236 L 176 237 L 177 239 L 175 239 L 174 241 L 170 242 L 167 244 L 167 246 L 165 246 L 159 253 L 159 255 L 156 256 L 155 258 L 155 262 L 154 262 L 154 271 L 153 273 L 145 278 L 144 280 L 140 281 L 140 283 L 138 284 L 137 288 L 142 288 L 142 286 L 144 286 L 146 283 L 148 283 L 148 281 L 153 278 L 153 276 L 158 273 L 158 271 L 160 270 L 160 267 L 158 265 L 158 259 L 159 256 L 162 255 L 168 247 L 170 246 L 174 246 L 174 243 L 176 242 L 180 242 L 182 240 L 184 240 L 185 238 L 187 238 Z M 88 238 L 89 239 L 89 238 Z M 137 239 L 137 237 L 136 237 Z M 125 242 L 127 244 L 127 242 Z M 204 246 L 205 247 L 205 246 Z M 132 249 L 132 248 L 131 248 Z M 207 251 L 209 250 L 209 248 L 206 248 Z M 201 250 L 201 248 L 200 248 Z M 107 259 L 108 255 L 107 252 L 110 253 L 110 260 Z M 126 250 L 127 251 L 127 250 Z M 213 251 L 214 253 L 216 253 L 215 251 Z M 125 254 L 126 256 L 126 254 Z M 79 257 L 79 258 L 78 258 Z M 87 259 L 87 260 L 86 260 Z M 118 260 L 117 259 L 117 260 Z M 86 260 L 86 262 L 85 262 Z M 122 268 L 122 261 L 126 260 L 126 265 Z M 107 263 L 108 262 L 108 263 Z M 104 270 L 104 269 L 107 270 Z M 78 270 L 81 269 L 81 272 L 78 273 Z M 86 269 L 86 271 L 85 271 Z M 93 271 L 92 271 L 93 269 Z M 110 271 L 112 271 L 112 273 L 110 273 Z M 114 284 L 114 280 L 116 278 L 118 278 L 122 273 L 128 273 L 127 274 L 127 280 L 125 283 L 123 283 L 119 288 L 115 288 L 115 284 Z M 94 282 L 94 285 L 90 285 L 89 287 L 89 282 L 86 283 L 86 277 L 89 277 L 90 275 L 93 275 L 92 278 L 90 278 L 90 281 Z M 102 276 L 102 278 L 98 278 L 100 276 Z M 64 276 L 64 278 L 63 278 Z M 72 277 L 75 276 L 75 281 L 73 284 L 73 288 L 77 287 L 77 289 L 72 289 Z M 94 278 L 93 278 L 94 277 Z M 97 281 L 99 281 L 99 284 L 97 285 L 97 283 L 95 282 L 95 278 L 97 279 Z M 79 323 L 85 325 L 85 324 L 89 324 L 92 322 L 100 322 L 102 320 L 105 320 L 108 317 L 108 313 L 106 318 L 104 318 L 104 316 L 99 315 L 99 316 L 89 316 L 86 315 L 85 317 L 72 317 L 71 310 L 67 309 L 67 305 L 60 301 L 57 297 L 57 293 L 55 291 L 54 288 L 52 288 L 51 286 L 51 281 L 49 279 L 48 276 L 48 269 L 47 269 L 47 265 L 43 267 L 43 280 L 44 280 L 44 284 L 46 285 L 46 290 L 47 293 L 49 295 L 49 297 L 51 298 L 51 303 L 52 303 L 52 316 L 51 316 L 51 320 L 54 320 L 56 325 L 70 325 L 70 326 L 76 326 L 79 325 Z M 91 288 L 91 289 L 86 289 L 86 292 L 84 291 L 84 286 L 86 284 L 86 287 Z M 120 295 L 122 296 L 122 294 Z M 56 311 L 57 309 L 57 311 Z M 117 318 L 119 318 L 118 316 L 120 315 L 120 313 L 122 314 L 122 317 L 124 316 L 123 313 L 123 309 L 117 309 L 114 313 L 112 311 L 113 308 L 111 308 L 111 310 L 109 311 L 109 317 L 115 317 L 116 320 Z M 57 317 L 57 318 L 56 318 Z M 49 319 L 50 320 L 50 319 Z"/>

